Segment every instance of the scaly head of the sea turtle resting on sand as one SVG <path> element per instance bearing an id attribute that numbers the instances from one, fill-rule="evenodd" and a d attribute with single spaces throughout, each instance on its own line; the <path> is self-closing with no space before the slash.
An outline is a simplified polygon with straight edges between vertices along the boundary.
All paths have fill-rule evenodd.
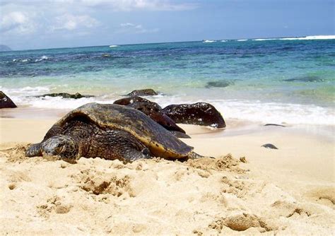
<path id="1" fill-rule="evenodd" d="M 53 136 L 42 143 L 43 155 L 58 155 L 61 158 L 75 159 L 78 144 L 74 138 L 66 135 Z"/>

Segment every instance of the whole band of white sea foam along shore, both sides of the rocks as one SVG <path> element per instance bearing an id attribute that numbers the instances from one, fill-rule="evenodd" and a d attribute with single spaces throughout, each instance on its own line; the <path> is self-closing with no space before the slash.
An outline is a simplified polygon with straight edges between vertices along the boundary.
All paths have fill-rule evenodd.
<path id="1" fill-rule="evenodd" d="M 45 109 L 74 109 L 88 102 L 112 103 L 119 99 L 117 95 L 105 95 L 93 98 L 64 99 L 60 97 L 35 98 L 34 95 L 49 93 L 47 87 L 2 88 L 18 106 L 29 105 Z M 119 93 L 122 94 L 122 93 Z M 170 104 L 199 102 L 199 98 L 189 96 L 153 96 L 150 100 L 158 102 L 162 107 Z M 317 105 L 300 105 L 280 102 L 260 102 L 252 100 L 211 100 L 209 102 L 223 114 L 226 119 L 247 119 L 252 122 L 276 124 L 318 124 L 335 125 L 335 111 L 332 107 Z"/>

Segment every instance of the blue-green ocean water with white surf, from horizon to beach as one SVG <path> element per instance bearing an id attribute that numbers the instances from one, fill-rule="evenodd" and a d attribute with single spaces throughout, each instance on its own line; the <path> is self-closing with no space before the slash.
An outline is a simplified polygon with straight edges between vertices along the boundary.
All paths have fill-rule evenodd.
<path id="1" fill-rule="evenodd" d="M 70 109 L 153 88 L 162 106 L 204 101 L 225 118 L 334 125 L 335 37 L 0 52 L 0 81 L 18 106 Z M 33 97 L 60 92 L 96 97 Z"/>

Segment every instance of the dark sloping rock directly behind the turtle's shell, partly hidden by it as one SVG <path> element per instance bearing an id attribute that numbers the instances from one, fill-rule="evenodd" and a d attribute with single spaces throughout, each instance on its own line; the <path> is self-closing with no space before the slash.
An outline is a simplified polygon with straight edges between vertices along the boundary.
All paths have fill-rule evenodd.
<path id="1" fill-rule="evenodd" d="M 163 112 L 162 107 L 160 107 L 160 105 L 158 105 L 156 102 L 151 102 L 141 97 L 132 97 L 116 100 L 114 104 L 133 107 L 136 110 L 139 110 L 140 112 L 146 114 L 148 117 L 163 126 L 165 129 L 169 131 L 178 131 L 185 134 L 185 131 L 180 128 L 180 126 L 177 126 L 175 121 L 168 117 Z"/>

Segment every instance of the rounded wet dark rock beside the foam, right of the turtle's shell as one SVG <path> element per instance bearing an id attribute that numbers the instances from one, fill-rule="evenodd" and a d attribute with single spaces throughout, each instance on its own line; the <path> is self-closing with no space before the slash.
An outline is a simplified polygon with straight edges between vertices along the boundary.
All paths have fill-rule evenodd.
<path id="1" fill-rule="evenodd" d="M 163 112 L 176 123 L 198 124 L 215 128 L 225 127 L 225 120 L 220 112 L 206 102 L 169 105 L 163 109 Z"/>

